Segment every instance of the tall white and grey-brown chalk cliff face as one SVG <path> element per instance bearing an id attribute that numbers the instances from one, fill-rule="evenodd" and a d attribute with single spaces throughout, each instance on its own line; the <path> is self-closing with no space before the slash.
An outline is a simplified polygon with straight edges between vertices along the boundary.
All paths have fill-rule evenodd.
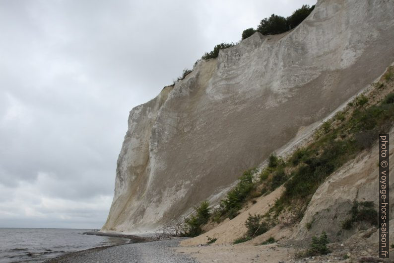
<path id="1" fill-rule="evenodd" d="M 307 132 L 394 61 L 394 1 L 319 0 L 294 30 L 255 33 L 130 112 L 102 230 L 153 231 Z"/>

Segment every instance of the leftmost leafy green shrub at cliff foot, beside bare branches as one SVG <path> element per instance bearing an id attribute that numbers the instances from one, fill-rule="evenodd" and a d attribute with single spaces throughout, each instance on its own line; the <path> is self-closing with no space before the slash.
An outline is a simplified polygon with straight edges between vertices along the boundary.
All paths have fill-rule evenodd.
<path id="1" fill-rule="evenodd" d="M 209 203 L 203 201 L 199 206 L 194 208 L 193 214 L 185 219 L 182 236 L 196 237 L 200 235 L 202 233 L 201 226 L 208 223 L 209 216 Z"/>

